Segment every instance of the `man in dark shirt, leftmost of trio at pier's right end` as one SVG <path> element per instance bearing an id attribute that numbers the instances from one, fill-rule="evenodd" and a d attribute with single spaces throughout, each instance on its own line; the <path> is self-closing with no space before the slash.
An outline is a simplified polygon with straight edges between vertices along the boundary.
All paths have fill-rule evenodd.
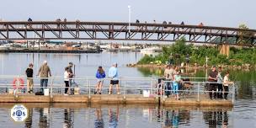
<path id="1" fill-rule="evenodd" d="M 215 91 L 213 93 L 214 99 L 216 99 L 217 75 L 218 75 L 218 72 L 216 72 L 216 66 L 211 67 L 211 72 L 209 73 L 209 77 L 208 77 L 208 81 L 210 82 L 208 91 Z M 210 96 L 210 99 L 212 99 L 212 92 L 209 92 L 209 96 Z"/>

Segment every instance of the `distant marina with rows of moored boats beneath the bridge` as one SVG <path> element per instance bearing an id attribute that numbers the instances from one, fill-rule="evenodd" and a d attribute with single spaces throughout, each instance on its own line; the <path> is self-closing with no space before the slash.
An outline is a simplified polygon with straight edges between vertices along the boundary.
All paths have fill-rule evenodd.
<path id="1" fill-rule="evenodd" d="M 162 51 L 164 45 L 157 44 L 124 44 L 124 43 L 93 43 L 63 41 L 29 41 L 14 40 L 0 42 L 3 53 L 100 53 L 102 51 L 136 51 L 152 54 Z"/>

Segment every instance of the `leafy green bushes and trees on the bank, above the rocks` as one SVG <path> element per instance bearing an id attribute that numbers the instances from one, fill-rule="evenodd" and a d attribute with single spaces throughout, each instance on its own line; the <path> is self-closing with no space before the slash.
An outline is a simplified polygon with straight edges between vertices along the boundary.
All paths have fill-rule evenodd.
<path id="1" fill-rule="evenodd" d="M 189 63 L 197 63 L 200 66 L 205 65 L 206 56 L 209 65 L 254 65 L 256 63 L 256 49 L 254 48 L 230 48 L 230 55 L 221 55 L 217 46 L 195 46 L 187 45 L 185 39 L 175 42 L 173 45 L 163 47 L 163 52 L 157 56 L 144 56 L 138 61 L 138 64 L 165 64 L 169 61 L 170 55 L 173 56 L 175 64 L 185 61 L 185 56 L 189 55 Z M 178 57 L 177 57 L 178 56 Z"/>

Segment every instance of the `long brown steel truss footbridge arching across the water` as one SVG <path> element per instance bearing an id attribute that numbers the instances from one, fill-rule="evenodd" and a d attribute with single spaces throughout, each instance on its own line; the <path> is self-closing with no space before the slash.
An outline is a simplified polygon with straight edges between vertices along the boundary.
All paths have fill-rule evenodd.
<path id="1" fill-rule="evenodd" d="M 255 45 L 256 29 L 187 24 L 131 23 L 129 26 L 128 23 L 80 21 L 0 22 L 0 40 L 175 41 L 181 38 L 191 43 Z"/>

